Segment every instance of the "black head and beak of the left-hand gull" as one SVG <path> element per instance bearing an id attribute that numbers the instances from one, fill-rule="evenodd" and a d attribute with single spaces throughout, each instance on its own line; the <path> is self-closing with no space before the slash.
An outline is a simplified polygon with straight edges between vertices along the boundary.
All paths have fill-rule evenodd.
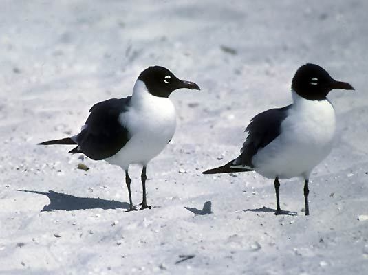
<path id="1" fill-rule="evenodd" d="M 199 86 L 191 81 L 180 80 L 169 69 L 160 66 L 148 67 L 138 77 L 146 85 L 153 96 L 167 98 L 176 89 L 199 90 Z"/>

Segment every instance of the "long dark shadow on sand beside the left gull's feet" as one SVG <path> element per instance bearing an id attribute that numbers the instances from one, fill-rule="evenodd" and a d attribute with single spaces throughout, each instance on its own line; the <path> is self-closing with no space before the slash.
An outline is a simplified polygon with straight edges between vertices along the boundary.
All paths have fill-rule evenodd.
<path id="1" fill-rule="evenodd" d="M 100 198 L 75 197 L 64 193 L 58 193 L 50 190 L 49 192 L 39 192 L 32 190 L 17 190 L 20 192 L 28 192 L 38 195 L 45 195 L 50 199 L 50 203 L 43 206 L 42 211 L 64 210 L 75 211 L 85 209 L 129 209 L 129 203 L 120 201 L 109 201 Z"/>

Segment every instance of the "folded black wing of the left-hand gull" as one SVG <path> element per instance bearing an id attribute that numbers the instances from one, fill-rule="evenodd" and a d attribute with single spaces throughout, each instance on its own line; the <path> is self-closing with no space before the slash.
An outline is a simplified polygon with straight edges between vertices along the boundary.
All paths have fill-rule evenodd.
<path id="1" fill-rule="evenodd" d="M 91 159 L 106 159 L 115 155 L 129 141 L 129 131 L 118 118 L 128 110 L 131 96 L 111 98 L 95 104 L 82 131 L 72 137 L 78 144 L 69 153 L 84 153 Z"/>

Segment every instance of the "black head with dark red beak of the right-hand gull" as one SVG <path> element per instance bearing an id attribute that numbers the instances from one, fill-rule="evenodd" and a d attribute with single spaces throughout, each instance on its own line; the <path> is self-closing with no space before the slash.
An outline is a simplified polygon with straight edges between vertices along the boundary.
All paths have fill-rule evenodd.
<path id="1" fill-rule="evenodd" d="M 349 83 L 334 80 L 323 67 L 310 63 L 296 71 L 292 89 L 309 100 L 324 100 L 332 89 L 354 90 Z"/>

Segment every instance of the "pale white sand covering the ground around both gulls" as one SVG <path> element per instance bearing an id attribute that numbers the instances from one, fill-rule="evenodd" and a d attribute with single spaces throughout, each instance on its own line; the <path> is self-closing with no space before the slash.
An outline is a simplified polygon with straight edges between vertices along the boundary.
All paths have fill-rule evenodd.
<path id="1" fill-rule="evenodd" d="M 0 274 L 367 274 L 368 1 L 137 2 L 1 1 Z M 237 156 L 252 116 L 290 103 L 306 62 L 356 88 L 329 96 L 338 135 L 312 175 L 311 216 L 300 179 L 280 188 L 296 217 L 245 211 L 275 207 L 271 180 L 201 172 Z M 36 143 L 77 133 L 149 65 L 202 91 L 171 97 L 177 132 L 148 167 L 155 208 L 127 213 L 120 168 L 78 170 L 71 148 Z M 206 201 L 213 214 L 185 208 Z"/>

